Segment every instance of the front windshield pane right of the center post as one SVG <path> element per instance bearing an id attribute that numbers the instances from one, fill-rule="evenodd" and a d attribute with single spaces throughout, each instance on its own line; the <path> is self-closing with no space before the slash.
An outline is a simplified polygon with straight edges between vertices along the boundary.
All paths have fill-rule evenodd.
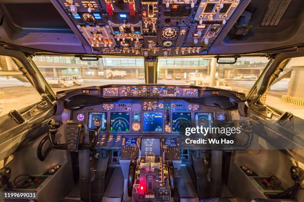
<path id="1" fill-rule="evenodd" d="M 234 58 L 220 62 L 232 63 Z M 157 83 L 211 86 L 246 94 L 267 63 L 266 57 L 240 57 L 235 64 L 218 64 L 213 57 L 159 58 Z"/>

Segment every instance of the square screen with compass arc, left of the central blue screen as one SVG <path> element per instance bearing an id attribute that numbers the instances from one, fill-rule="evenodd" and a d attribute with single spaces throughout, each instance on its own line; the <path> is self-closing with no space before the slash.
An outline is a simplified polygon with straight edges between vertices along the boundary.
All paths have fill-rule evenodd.
<path id="1" fill-rule="evenodd" d="M 111 112 L 111 131 L 130 131 L 130 112 Z"/>

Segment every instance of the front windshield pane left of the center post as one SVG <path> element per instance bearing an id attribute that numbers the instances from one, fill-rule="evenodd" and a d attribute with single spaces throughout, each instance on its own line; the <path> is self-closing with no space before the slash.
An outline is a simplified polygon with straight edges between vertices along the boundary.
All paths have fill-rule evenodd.
<path id="1" fill-rule="evenodd" d="M 102 57 L 83 61 L 74 56 L 41 55 L 33 60 L 54 92 L 80 86 L 145 83 L 143 58 Z"/>

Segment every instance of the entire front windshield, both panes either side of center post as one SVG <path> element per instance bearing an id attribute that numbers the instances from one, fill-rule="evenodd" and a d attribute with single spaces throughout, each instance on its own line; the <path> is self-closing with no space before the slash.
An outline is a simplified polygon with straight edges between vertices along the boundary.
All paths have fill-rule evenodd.
<path id="1" fill-rule="evenodd" d="M 54 92 L 79 86 L 145 83 L 144 58 L 102 57 L 82 61 L 74 56 L 46 55 L 35 56 L 33 60 Z M 234 58 L 220 61 L 233 62 Z M 157 83 L 212 86 L 247 93 L 267 62 L 266 57 L 240 57 L 235 64 L 218 64 L 213 57 L 159 58 Z"/>

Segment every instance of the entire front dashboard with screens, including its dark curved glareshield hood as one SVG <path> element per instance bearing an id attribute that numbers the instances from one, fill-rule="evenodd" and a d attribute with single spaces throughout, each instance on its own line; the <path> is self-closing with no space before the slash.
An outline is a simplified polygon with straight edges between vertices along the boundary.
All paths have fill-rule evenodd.
<path id="1" fill-rule="evenodd" d="M 120 159 L 153 152 L 180 159 L 186 128 L 231 120 L 242 94 L 192 85 L 105 85 L 57 92 L 73 121 L 87 125 L 95 150 L 117 150 Z M 98 123 L 98 128 L 95 123 Z M 203 147 L 203 146 L 202 146 Z M 159 152 L 160 150 L 160 152 Z"/>

